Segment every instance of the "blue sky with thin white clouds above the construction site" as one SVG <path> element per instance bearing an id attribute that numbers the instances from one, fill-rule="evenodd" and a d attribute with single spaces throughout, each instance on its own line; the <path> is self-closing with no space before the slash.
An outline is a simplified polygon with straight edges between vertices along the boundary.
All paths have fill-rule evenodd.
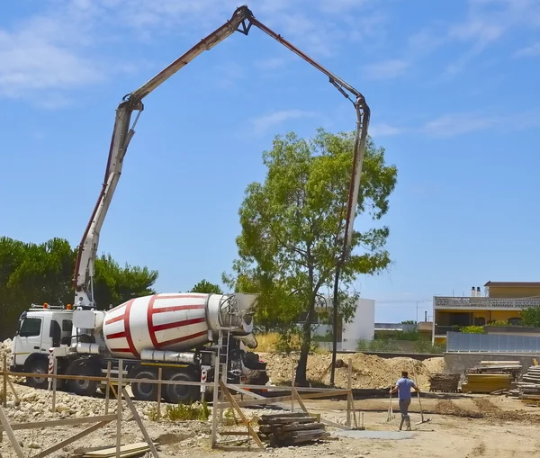
<path id="1" fill-rule="evenodd" d="M 17 0 L 0 17 L 0 234 L 80 240 L 124 94 L 229 19 L 228 0 Z M 535 281 L 540 128 L 536 0 L 258 0 L 257 19 L 365 94 L 399 168 L 388 272 L 358 279 L 376 319 L 437 295 Z M 535 83 L 536 82 L 536 83 Z M 253 28 L 145 99 L 100 252 L 159 291 L 220 282 L 238 207 L 275 134 L 353 130 L 328 79 Z M 369 221 L 357 220 L 358 227 Z M 483 290 L 483 288 L 482 288 Z"/>

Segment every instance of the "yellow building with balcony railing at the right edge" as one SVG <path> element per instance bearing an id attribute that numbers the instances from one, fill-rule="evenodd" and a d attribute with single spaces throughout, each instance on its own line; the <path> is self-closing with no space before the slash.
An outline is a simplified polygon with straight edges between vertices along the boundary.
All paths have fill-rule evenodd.
<path id="1" fill-rule="evenodd" d="M 540 282 L 488 282 L 471 296 L 433 298 L 433 342 L 445 343 L 446 332 L 493 321 L 518 324 L 521 310 L 540 307 Z"/>

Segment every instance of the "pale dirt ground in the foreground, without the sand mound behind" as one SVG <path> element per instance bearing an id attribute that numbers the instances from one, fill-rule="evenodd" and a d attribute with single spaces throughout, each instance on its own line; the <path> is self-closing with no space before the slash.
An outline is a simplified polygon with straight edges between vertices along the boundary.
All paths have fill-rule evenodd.
<path id="1" fill-rule="evenodd" d="M 52 418 L 72 418 L 87 415 L 103 415 L 103 399 L 81 398 L 67 393 L 58 393 L 58 403 L 64 406 L 61 412 L 49 412 L 50 393 L 16 385 L 23 401 L 18 408 L 5 409 L 13 422 L 42 421 Z M 528 458 L 540 452 L 540 408 L 524 406 L 519 400 L 504 396 L 443 395 L 437 399 L 422 399 L 425 418 L 431 421 L 420 426 L 419 403 L 415 398 L 410 408 L 413 437 L 402 440 L 352 439 L 339 437 L 319 445 L 284 447 L 269 449 L 266 452 L 211 450 L 211 420 L 209 421 L 152 421 L 148 418 L 148 409 L 155 403 L 136 402 L 140 415 L 151 438 L 160 444 L 160 456 L 195 456 L 211 454 L 217 457 L 261 457 L 270 453 L 275 457 L 293 457 L 302 454 L 304 458 L 320 456 L 336 457 L 377 457 L 377 458 L 419 458 L 421 457 L 481 457 Z M 344 424 L 347 418 L 345 401 L 311 400 L 305 402 L 312 413 L 320 413 L 322 418 Z M 400 415 L 397 404 L 393 402 L 395 418 L 387 422 L 388 399 L 356 400 L 356 412 L 364 412 L 367 431 L 397 431 Z M 111 402 L 111 411 L 115 411 L 115 402 Z M 269 413 L 269 409 L 244 409 L 247 418 Z M 143 440 L 136 423 L 129 420 L 130 414 L 124 413 L 122 424 L 122 442 L 132 444 Z M 42 430 L 16 431 L 23 445 L 25 456 L 38 454 L 43 448 L 55 444 L 85 426 L 51 427 Z M 328 428 L 330 432 L 335 431 Z M 94 432 L 85 439 L 68 445 L 64 450 L 52 456 L 67 458 L 77 447 L 114 445 L 116 425 L 112 423 Z M 9 441 L 4 435 L 0 444 L 0 456 L 15 456 Z"/>

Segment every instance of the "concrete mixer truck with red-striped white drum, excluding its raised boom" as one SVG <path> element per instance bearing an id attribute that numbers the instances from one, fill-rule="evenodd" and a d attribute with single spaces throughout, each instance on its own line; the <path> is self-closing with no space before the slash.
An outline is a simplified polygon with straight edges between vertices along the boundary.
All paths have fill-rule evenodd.
<path id="1" fill-rule="evenodd" d="M 107 311 L 33 305 L 20 318 L 11 368 L 48 373 L 49 355 L 54 355 L 58 373 L 103 376 L 109 363 L 117 373 L 121 358 L 129 379 L 156 380 L 161 367 L 163 380 L 212 382 L 219 346 L 227 346 L 220 350 L 228 358 L 228 381 L 264 385 L 266 364 L 240 348 L 257 346 L 255 301 L 256 294 L 190 292 L 139 297 Z M 47 378 L 27 379 L 33 387 L 48 386 Z M 66 385 L 67 391 L 85 396 L 100 388 L 93 380 Z M 131 391 L 137 400 L 157 400 L 155 383 L 132 382 Z M 162 395 L 167 402 L 189 403 L 200 399 L 199 391 L 198 386 L 167 384 Z"/>

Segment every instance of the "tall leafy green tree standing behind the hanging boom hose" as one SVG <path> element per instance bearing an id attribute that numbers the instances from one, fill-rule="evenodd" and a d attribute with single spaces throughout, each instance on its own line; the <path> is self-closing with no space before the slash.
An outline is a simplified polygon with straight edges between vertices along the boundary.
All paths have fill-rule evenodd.
<path id="1" fill-rule="evenodd" d="M 333 283 L 343 247 L 353 132 L 318 130 L 314 139 L 294 133 L 276 136 L 263 153 L 264 183 L 247 186 L 239 210 L 241 234 L 233 274 L 223 281 L 235 291 L 260 292 L 257 326 L 291 329 L 302 317 L 302 348 L 296 380 L 305 383 L 311 330 L 321 292 Z M 384 163 L 384 149 L 368 139 L 357 214 L 380 220 L 396 184 L 397 169 Z M 352 254 L 342 268 L 340 316 L 350 320 L 357 295 L 351 285 L 359 274 L 376 274 L 391 260 L 384 249 L 389 229 L 355 231 Z M 329 311 L 331 301 L 326 308 Z M 327 319 L 331 313 L 326 313 Z"/>

